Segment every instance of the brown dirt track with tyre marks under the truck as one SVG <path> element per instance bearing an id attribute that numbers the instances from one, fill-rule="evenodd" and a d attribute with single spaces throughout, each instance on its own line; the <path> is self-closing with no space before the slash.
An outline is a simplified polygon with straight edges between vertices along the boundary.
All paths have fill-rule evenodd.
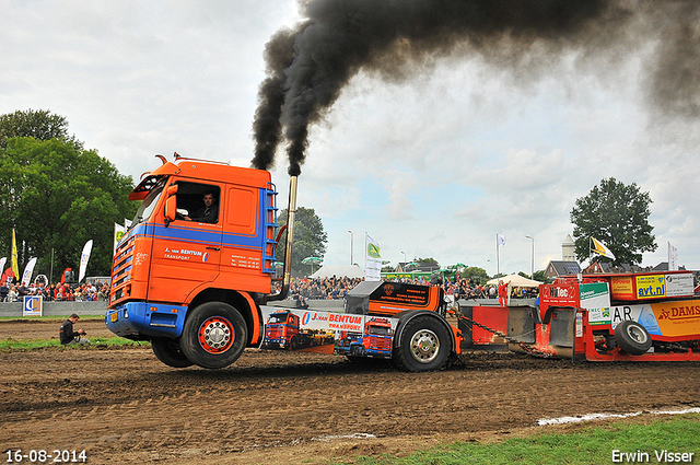
<path id="1" fill-rule="evenodd" d="M 55 337 L 59 324 L 0 323 L 0 339 Z M 144 347 L 14 351 L 0 353 L 0 445 L 84 449 L 92 464 L 324 463 L 508 437 L 541 418 L 700 407 L 698 380 L 699 363 L 522 354 L 413 374 L 256 349 L 220 371 L 171 369 Z"/>

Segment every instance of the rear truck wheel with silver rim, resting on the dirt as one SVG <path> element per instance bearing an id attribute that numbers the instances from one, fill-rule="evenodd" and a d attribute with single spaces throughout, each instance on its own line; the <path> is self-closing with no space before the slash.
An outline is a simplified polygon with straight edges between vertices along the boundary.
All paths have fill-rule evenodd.
<path id="1" fill-rule="evenodd" d="M 450 333 L 440 321 L 418 316 L 404 327 L 394 360 L 405 371 L 440 370 L 450 358 Z"/>

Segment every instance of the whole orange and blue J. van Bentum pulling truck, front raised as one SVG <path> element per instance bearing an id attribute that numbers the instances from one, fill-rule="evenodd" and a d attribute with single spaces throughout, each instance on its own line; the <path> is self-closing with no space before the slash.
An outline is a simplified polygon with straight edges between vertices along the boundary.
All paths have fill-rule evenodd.
<path id="1" fill-rule="evenodd" d="M 289 226 L 278 231 L 269 172 L 158 156 L 161 166 L 129 195 L 141 206 L 117 244 L 105 323 L 118 336 L 150 340 L 170 367 L 221 369 L 246 347 L 262 345 L 266 318 L 279 311 L 269 302 L 289 291 L 296 177 L 290 178 Z M 276 278 L 283 232 L 283 276 Z M 363 282 L 351 293 L 346 312 L 306 312 L 304 318 L 337 334 L 390 316 L 392 357 L 405 370 L 440 369 L 459 352 L 440 288 Z"/>

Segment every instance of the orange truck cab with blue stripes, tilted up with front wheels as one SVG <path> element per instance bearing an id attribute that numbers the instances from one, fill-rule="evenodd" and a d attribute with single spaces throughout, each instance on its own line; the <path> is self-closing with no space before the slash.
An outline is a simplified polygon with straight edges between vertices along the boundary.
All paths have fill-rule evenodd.
<path id="1" fill-rule="evenodd" d="M 258 305 L 275 275 L 277 190 L 267 171 L 162 161 L 129 195 L 141 206 L 113 259 L 106 324 L 150 339 L 167 364 L 225 367 L 262 337 Z M 201 220 L 206 195 L 217 210 Z"/>

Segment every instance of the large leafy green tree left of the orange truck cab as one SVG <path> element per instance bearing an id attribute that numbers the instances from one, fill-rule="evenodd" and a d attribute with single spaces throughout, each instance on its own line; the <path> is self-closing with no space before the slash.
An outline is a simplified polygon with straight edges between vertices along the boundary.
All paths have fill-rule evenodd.
<path id="1" fill-rule="evenodd" d="M 57 281 L 65 268 L 78 275 L 82 247 L 92 239 L 88 274 L 109 275 L 114 223 L 137 208 L 127 198 L 132 187 L 130 176 L 72 140 L 11 138 L 0 150 L 0 247 L 10 252 L 15 229 L 20 266 L 37 257 L 35 274 L 46 276 L 52 251 Z"/>

